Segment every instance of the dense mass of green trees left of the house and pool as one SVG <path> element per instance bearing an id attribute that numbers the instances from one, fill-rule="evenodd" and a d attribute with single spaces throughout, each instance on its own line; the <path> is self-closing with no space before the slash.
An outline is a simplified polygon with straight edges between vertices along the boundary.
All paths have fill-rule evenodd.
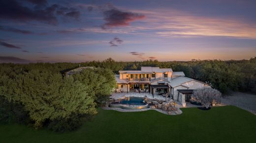
<path id="1" fill-rule="evenodd" d="M 0 120 L 70 131 L 97 113 L 115 86 L 109 69 L 86 69 L 69 77 L 74 64 L 1 64 Z"/>

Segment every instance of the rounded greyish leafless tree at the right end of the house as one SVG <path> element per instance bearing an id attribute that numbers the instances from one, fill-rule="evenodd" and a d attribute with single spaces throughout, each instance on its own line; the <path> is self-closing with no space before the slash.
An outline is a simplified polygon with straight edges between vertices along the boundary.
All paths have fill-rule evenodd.
<path id="1" fill-rule="evenodd" d="M 206 109 L 209 108 L 213 100 L 220 102 L 221 92 L 212 88 L 203 88 L 193 91 L 193 95 L 198 99 Z"/>

